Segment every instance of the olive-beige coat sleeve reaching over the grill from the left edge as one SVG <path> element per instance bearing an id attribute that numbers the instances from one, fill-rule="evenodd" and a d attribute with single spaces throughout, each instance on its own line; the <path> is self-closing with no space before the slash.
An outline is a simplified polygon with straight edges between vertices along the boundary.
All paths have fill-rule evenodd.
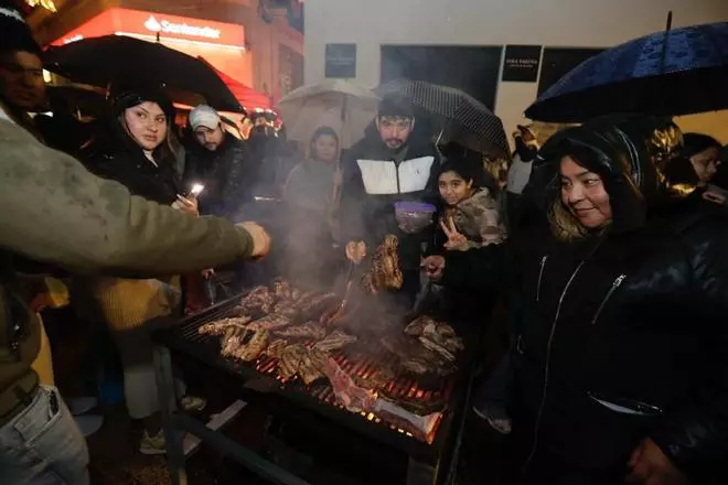
<path id="1" fill-rule="evenodd" d="M 0 120 L 0 247 L 82 273 L 160 276 L 249 257 L 250 235 L 131 196 Z"/>

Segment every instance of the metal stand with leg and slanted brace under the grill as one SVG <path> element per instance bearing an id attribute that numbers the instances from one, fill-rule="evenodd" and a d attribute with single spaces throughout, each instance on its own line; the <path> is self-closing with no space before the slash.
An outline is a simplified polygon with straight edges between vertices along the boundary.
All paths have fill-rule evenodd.
<path id="1" fill-rule="evenodd" d="M 214 446 L 236 462 L 247 467 L 258 476 L 277 485 L 311 485 L 275 463 L 261 459 L 239 443 L 226 438 L 221 432 L 206 427 L 200 421 L 186 416 L 176 406 L 174 378 L 172 375 L 172 358 L 170 351 L 163 346 L 154 347 L 154 373 L 159 387 L 159 400 L 162 416 L 162 429 L 167 442 L 167 457 L 172 485 L 188 485 L 184 467 L 185 452 L 182 433 L 186 432 L 206 444 Z M 463 417 L 464 418 L 464 417 Z M 461 427 L 460 427 L 461 428 Z M 461 431 L 462 429 L 460 429 Z M 458 433 L 460 434 L 460 433 Z M 460 438 L 457 439 L 457 448 Z M 450 472 L 450 471 L 448 471 Z M 451 483 L 451 473 L 446 473 L 445 483 Z M 406 485 L 433 485 L 437 483 L 438 470 L 427 463 L 409 457 Z"/>

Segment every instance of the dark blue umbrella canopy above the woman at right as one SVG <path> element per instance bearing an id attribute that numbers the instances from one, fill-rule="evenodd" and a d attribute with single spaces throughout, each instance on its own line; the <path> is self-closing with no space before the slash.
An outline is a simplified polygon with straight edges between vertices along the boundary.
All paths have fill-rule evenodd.
<path id="1" fill-rule="evenodd" d="M 728 22 L 646 35 L 580 64 L 526 116 L 578 122 L 610 114 L 689 115 L 728 108 Z"/>

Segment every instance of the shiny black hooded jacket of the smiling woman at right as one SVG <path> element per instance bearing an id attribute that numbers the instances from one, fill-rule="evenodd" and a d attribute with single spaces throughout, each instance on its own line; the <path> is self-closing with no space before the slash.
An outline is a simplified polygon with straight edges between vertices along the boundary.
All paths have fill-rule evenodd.
<path id="1" fill-rule="evenodd" d="M 539 463 L 621 483 L 647 436 L 693 483 L 725 483 L 728 219 L 675 196 L 635 123 L 595 122 L 544 147 L 554 160 L 596 154 L 587 168 L 610 194 L 606 233 L 563 242 L 531 227 L 447 260 L 446 284 L 492 289 L 507 277 L 522 299 L 513 416 L 528 483 L 545 483 Z"/>

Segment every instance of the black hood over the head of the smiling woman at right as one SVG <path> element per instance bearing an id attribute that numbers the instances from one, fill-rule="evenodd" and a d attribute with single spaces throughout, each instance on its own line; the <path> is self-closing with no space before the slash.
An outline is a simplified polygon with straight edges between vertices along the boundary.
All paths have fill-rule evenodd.
<path id="1" fill-rule="evenodd" d="M 681 155 L 682 147 L 682 132 L 670 119 L 613 117 L 557 133 L 543 147 L 539 158 L 552 172 L 546 187 L 549 200 L 560 196 L 561 158 L 572 155 L 604 182 L 612 230 L 629 231 L 642 227 L 655 207 L 696 188 L 696 180 L 675 176 L 684 174 L 685 164 L 689 164 Z"/>

